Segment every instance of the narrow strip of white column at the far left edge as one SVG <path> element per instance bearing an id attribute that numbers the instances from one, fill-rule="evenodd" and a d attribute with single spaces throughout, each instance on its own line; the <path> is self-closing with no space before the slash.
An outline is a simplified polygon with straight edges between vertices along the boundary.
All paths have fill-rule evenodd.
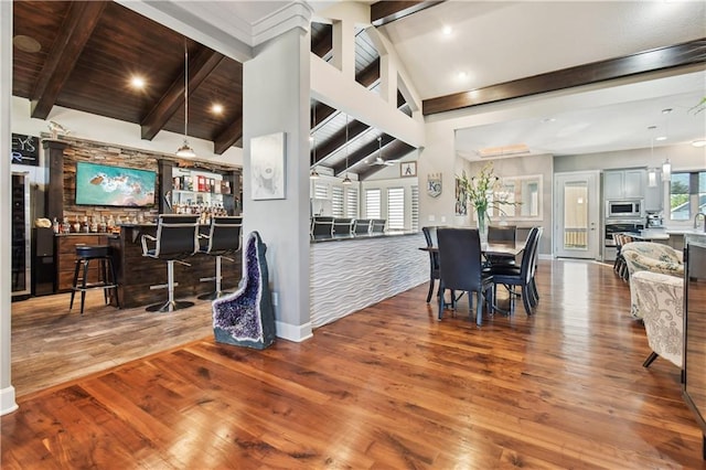
<path id="1" fill-rule="evenodd" d="M 12 170 L 7 151 L 12 148 L 12 2 L 0 1 L 0 415 L 14 412 L 14 387 L 10 383 L 10 321 L 12 266 Z"/>

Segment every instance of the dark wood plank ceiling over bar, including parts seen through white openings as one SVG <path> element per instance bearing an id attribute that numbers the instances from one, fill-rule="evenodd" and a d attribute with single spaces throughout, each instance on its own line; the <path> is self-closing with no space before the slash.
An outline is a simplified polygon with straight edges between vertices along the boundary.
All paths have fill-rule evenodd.
<path id="1" fill-rule="evenodd" d="M 140 125 L 148 140 L 161 130 L 181 135 L 186 47 L 189 136 L 213 141 L 217 154 L 242 147 L 242 63 L 110 1 L 14 1 L 13 29 L 12 93 L 31 102 L 33 118 L 47 119 L 61 106 Z M 331 38 L 330 25 L 312 24 L 312 51 L 323 60 L 331 58 Z M 145 79 L 143 89 L 130 86 L 135 75 Z M 379 82 L 379 56 L 365 30 L 356 34 L 356 79 L 373 92 Z M 398 100 L 409 115 L 402 95 Z M 221 114 L 212 110 L 214 104 L 223 107 Z M 335 174 L 347 170 L 363 180 L 385 168 L 365 164 L 376 153 L 396 160 L 413 150 L 354 119 L 349 119 L 345 146 L 345 116 L 322 103 L 312 102 L 311 108 L 317 146 L 311 163 Z"/>

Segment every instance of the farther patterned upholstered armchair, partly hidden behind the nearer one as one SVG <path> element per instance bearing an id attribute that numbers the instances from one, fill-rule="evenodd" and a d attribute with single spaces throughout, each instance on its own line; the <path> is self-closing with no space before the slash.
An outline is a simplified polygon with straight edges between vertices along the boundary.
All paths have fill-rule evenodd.
<path id="1" fill-rule="evenodd" d="M 620 253 L 628 265 L 630 312 L 634 318 L 642 318 L 632 287 L 632 276 L 635 273 L 646 270 L 682 278 L 684 277 L 683 254 L 671 246 L 652 242 L 628 243 L 621 248 Z"/>

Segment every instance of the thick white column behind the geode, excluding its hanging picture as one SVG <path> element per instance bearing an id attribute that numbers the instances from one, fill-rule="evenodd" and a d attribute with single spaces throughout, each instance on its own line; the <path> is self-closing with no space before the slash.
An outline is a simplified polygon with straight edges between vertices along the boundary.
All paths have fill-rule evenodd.
<path id="1" fill-rule="evenodd" d="M 309 312 L 309 34 L 292 29 L 243 64 L 244 235 L 267 244 L 277 335 L 311 337 Z M 285 197 L 253 199 L 252 139 L 285 132 Z M 257 158 L 257 156 L 255 156 Z"/>

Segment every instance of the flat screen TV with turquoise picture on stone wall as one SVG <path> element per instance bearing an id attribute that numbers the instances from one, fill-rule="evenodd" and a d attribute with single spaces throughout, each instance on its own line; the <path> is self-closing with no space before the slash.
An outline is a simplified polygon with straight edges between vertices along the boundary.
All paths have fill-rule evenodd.
<path id="1" fill-rule="evenodd" d="M 76 204 L 154 205 L 157 173 L 150 170 L 76 162 Z"/>

